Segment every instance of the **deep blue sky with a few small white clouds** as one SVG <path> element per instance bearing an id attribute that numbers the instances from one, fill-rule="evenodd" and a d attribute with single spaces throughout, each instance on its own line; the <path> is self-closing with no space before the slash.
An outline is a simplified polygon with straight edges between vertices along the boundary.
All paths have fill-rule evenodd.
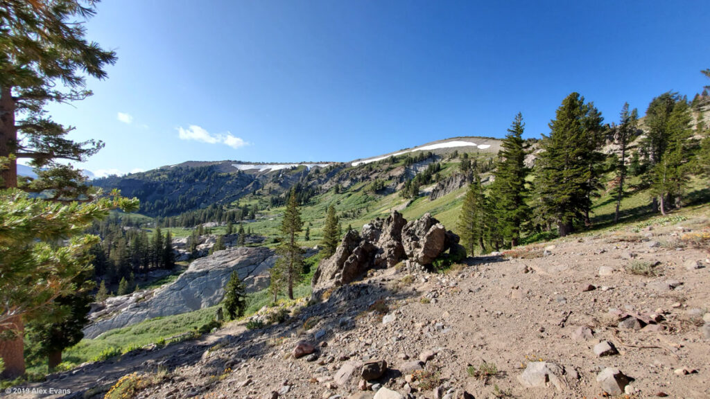
<path id="1" fill-rule="evenodd" d="M 98 175 L 186 160 L 347 161 L 454 136 L 547 133 L 581 93 L 624 102 L 709 84 L 709 1 L 104 0 L 94 96 L 51 106 L 106 148 Z"/>

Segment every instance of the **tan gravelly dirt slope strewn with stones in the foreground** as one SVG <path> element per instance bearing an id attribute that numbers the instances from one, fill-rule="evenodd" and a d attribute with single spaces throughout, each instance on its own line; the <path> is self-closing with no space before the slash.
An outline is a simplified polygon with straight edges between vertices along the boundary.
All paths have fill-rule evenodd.
<path id="1" fill-rule="evenodd" d="M 692 245 L 709 223 L 571 236 L 442 274 L 372 270 L 281 324 L 37 386 L 100 397 L 137 372 L 138 398 L 709 398 L 710 253 Z"/>

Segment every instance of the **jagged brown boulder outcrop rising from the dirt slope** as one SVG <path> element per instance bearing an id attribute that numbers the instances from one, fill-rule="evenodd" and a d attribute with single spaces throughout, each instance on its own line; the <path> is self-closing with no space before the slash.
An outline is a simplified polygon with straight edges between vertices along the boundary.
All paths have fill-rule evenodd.
<path id="1" fill-rule="evenodd" d="M 361 278 L 371 268 L 391 268 L 400 261 L 430 265 L 446 251 L 460 256 L 459 236 L 431 214 L 407 222 L 397 211 L 375 219 L 361 233 L 348 231 L 335 253 L 321 261 L 312 280 L 313 296 Z M 465 254 L 465 251 L 464 251 Z"/>

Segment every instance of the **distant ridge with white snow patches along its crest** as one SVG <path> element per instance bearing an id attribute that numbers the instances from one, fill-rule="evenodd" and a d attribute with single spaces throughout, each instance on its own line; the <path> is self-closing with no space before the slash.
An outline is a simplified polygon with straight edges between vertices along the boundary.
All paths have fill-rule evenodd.
<path id="1" fill-rule="evenodd" d="M 238 160 L 212 162 L 187 161 L 126 176 L 103 177 L 92 184 L 141 200 L 141 214 L 168 217 L 211 204 L 231 204 L 246 196 L 262 203 L 278 205 L 284 193 L 297 185 L 301 200 L 332 189 L 361 182 L 387 182 L 382 190 L 398 190 L 429 163 L 447 155 L 498 152 L 500 140 L 483 137 L 457 137 L 347 163 L 249 163 Z M 430 154 L 422 158 L 422 154 Z M 392 162 L 409 158 L 408 162 Z M 384 184 L 384 183 L 383 183 Z M 378 187 L 379 189 L 380 187 Z"/>

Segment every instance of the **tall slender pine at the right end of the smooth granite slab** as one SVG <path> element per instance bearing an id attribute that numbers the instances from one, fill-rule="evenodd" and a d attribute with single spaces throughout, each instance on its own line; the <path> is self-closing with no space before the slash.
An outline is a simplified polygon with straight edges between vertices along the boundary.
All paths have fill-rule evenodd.
<path id="1" fill-rule="evenodd" d="M 283 221 L 281 222 L 281 244 L 277 248 L 280 255 L 276 265 L 273 268 L 280 270 L 280 275 L 283 275 L 285 288 L 288 290 L 288 298 L 293 300 L 293 286 L 300 278 L 300 273 L 303 270 L 303 256 L 300 246 L 298 246 L 297 238 L 303 228 L 300 210 L 295 190 L 291 189 L 288 204 L 283 212 Z"/>

